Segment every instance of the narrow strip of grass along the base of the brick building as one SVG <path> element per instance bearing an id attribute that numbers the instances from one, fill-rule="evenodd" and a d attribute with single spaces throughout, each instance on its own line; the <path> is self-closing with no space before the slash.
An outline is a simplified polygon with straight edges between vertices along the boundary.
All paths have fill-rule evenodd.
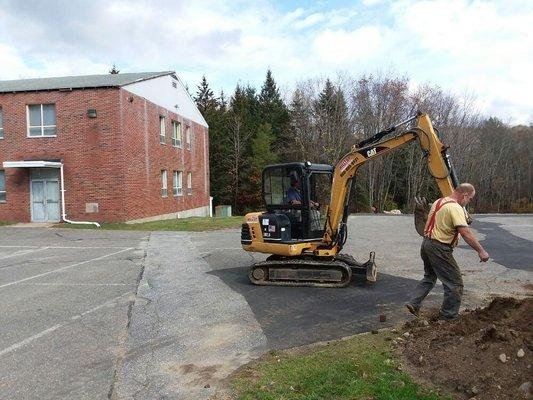
<path id="1" fill-rule="evenodd" d="M 163 221 L 143 222 L 139 224 L 125 223 L 103 223 L 101 228 L 94 225 L 76 225 L 76 224 L 57 224 L 56 228 L 74 228 L 74 229 L 111 229 L 111 230 L 128 230 L 128 231 L 208 231 L 225 228 L 240 228 L 243 217 L 227 218 L 181 218 L 168 219 Z"/>

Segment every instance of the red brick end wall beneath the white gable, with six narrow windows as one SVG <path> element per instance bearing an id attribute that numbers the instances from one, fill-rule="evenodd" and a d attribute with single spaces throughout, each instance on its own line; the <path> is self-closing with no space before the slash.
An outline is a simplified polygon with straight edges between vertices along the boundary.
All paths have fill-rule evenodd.
<path id="1" fill-rule="evenodd" d="M 206 182 L 207 128 L 159 107 L 127 90 L 120 93 L 120 124 L 123 132 L 125 166 L 125 219 L 209 205 L 209 177 Z M 159 116 L 165 117 L 166 143 L 159 142 Z M 172 146 L 172 121 L 181 123 L 181 148 Z M 185 143 L 185 126 L 192 129 L 191 149 Z M 161 196 L 161 170 L 167 171 L 167 197 Z M 183 194 L 172 194 L 172 173 L 183 172 Z M 187 172 L 192 172 L 192 195 L 187 194 Z M 147 205 L 149 204 L 149 209 Z"/>

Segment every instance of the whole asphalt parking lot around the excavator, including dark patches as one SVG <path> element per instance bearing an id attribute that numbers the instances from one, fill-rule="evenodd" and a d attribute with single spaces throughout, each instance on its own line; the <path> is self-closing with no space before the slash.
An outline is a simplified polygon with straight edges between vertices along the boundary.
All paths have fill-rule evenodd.
<path id="1" fill-rule="evenodd" d="M 492 260 L 456 249 L 464 305 L 531 295 L 533 216 L 473 227 Z M 207 399 L 269 349 L 409 319 L 402 305 L 421 277 L 411 217 L 355 216 L 349 231 L 345 252 L 376 251 L 377 283 L 253 286 L 247 269 L 265 255 L 242 251 L 238 230 L 0 228 L 0 398 Z"/>

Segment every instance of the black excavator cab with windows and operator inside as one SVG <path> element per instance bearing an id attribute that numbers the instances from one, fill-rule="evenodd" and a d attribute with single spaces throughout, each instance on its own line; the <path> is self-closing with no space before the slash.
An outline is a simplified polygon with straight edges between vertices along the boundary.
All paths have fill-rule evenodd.
<path id="1" fill-rule="evenodd" d="M 324 235 L 334 168 L 331 165 L 289 163 L 263 170 L 263 202 L 259 215 L 263 240 L 298 243 Z"/>

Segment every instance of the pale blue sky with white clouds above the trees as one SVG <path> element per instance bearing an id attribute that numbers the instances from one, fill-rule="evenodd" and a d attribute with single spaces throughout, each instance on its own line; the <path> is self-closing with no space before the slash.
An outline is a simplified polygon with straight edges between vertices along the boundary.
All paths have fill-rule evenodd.
<path id="1" fill-rule="evenodd" d="M 191 92 L 407 76 L 533 124 L 533 1 L 0 0 L 0 80 L 176 71 Z"/>

